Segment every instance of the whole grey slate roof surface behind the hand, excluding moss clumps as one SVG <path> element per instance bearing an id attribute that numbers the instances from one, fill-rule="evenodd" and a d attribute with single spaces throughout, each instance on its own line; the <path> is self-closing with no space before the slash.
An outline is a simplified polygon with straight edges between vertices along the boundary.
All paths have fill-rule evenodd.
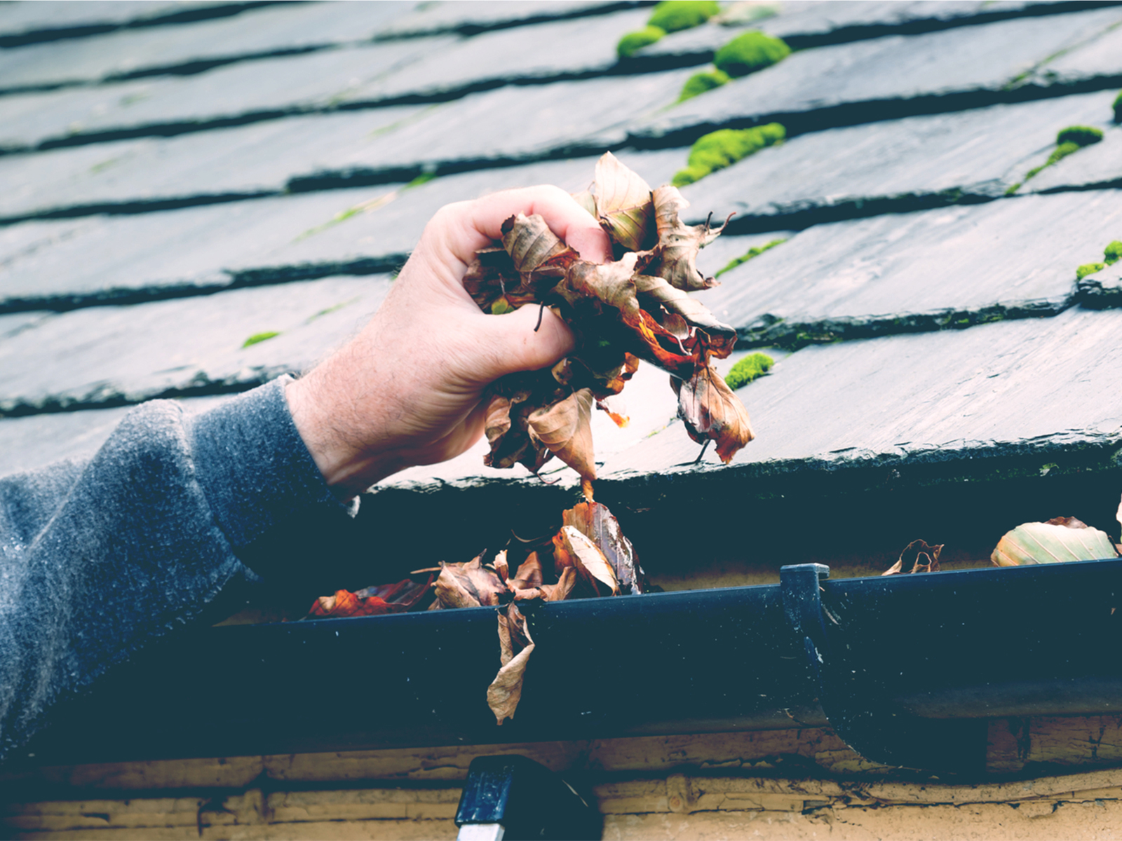
<path id="1" fill-rule="evenodd" d="M 1113 463 L 1122 262 L 1076 269 L 1122 239 L 1122 4 L 741 6 L 617 59 L 649 6 L 0 4 L 0 471 L 314 363 L 448 202 L 578 191 L 606 149 L 660 184 L 700 135 L 773 120 L 785 142 L 683 190 L 695 221 L 736 212 L 708 274 L 781 240 L 699 296 L 741 335 L 721 370 L 776 359 L 738 392 L 758 437 L 693 464 L 644 369 L 631 426 L 596 420 L 601 484 Z M 753 27 L 791 55 L 675 104 Z M 1072 124 L 1104 139 L 1026 179 Z M 544 488 L 482 452 L 384 484 Z"/>

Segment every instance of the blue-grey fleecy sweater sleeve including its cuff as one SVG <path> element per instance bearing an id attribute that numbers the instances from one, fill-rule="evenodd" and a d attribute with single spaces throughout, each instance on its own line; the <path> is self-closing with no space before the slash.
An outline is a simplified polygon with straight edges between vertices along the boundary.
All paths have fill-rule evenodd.
<path id="1" fill-rule="evenodd" d="M 0 479 L 0 756 L 53 703 L 256 577 L 240 549 L 302 511 L 342 510 L 285 379 L 197 416 L 144 404 L 89 462 Z"/>

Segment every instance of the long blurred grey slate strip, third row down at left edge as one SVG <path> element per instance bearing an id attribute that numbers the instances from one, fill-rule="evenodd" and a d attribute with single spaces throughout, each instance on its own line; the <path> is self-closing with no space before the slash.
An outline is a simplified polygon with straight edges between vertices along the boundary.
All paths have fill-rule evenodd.
<path id="1" fill-rule="evenodd" d="M 646 13 L 631 10 L 472 38 L 383 41 L 197 75 L 9 95 L 0 98 L 0 146 L 18 150 L 183 133 L 340 105 L 462 95 L 514 81 L 598 75 L 616 64 L 616 33 Z M 173 31 L 165 35 L 174 37 Z M 39 48 L 46 47 L 62 49 L 53 44 Z"/>

